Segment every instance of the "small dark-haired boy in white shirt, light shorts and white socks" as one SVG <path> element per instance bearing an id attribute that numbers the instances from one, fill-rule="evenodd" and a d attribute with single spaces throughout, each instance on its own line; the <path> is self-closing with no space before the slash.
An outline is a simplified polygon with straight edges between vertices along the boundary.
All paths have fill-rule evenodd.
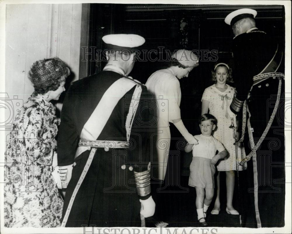
<path id="1" fill-rule="evenodd" d="M 201 226 L 207 226 L 206 212 L 214 195 L 215 164 L 227 156 L 227 151 L 220 141 L 212 136 L 217 119 L 211 114 L 204 114 L 200 121 L 200 135 L 194 137 L 197 145 L 187 145 L 186 152 L 193 150 L 193 160 L 190 165 L 189 186 L 196 188 L 196 208 Z M 215 155 L 216 151 L 218 154 Z"/>

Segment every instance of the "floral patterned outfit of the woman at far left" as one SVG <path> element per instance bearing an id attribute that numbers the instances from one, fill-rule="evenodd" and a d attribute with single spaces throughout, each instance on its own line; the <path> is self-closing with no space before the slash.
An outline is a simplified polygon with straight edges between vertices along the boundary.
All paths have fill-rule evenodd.
<path id="1" fill-rule="evenodd" d="M 60 226 L 63 199 L 51 175 L 59 124 L 41 95 L 30 96 L 15 116 L 5 155 L 6 227 Z"/>

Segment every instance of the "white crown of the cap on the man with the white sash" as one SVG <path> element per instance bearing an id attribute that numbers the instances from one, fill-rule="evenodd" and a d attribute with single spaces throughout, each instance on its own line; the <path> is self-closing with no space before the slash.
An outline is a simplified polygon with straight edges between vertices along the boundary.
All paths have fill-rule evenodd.
<path id="1" fill-rule="evenodd" d="M 102 41 L 106 44 L 124 48 L 134 48 L 145 43 L 144 37 L 136 34 L 109 34 L 102 37 Z"/>

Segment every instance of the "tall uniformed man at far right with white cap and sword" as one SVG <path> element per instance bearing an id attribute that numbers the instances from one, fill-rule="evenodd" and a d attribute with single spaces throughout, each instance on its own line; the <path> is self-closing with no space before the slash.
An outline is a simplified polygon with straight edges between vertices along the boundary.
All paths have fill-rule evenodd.
<path id="1" fill-rule="evenodd" d="M 245 191 L 251 206 L 243 223 L 246 227 L 281 227 L 285 205 L 284 114 L 279 108 L 284 92 L 282 50 L 256 27 L 256 15 L 255 10 L 243 8 L 225 18 L 234 33 L 237 94 L 230 109 L 235 114 L 243 111 L 241 141 L 247 157 L 240 163 L 248 161 L 248 177 L 240 185 L 248 185 Z"/>

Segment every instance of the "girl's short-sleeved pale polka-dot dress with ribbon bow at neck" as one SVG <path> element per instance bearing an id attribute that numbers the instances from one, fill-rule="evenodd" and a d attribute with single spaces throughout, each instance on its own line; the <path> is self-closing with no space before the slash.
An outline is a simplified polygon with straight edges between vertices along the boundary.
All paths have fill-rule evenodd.
<path id="1" fill-rule="evenodd" d="M 236 126 L 236 115 L 230 110 L 230 104 L 234 96 L 235 89 L 227 84 L 227 89 L 224 92 L 219 91 L 215 84 L 205 89 L 202 100 L 209 101 L 209 113 L 214 115 L 217 120 L 217 128 L 213 136 L 218 139 L 228 151 L 227 157 L 220 160 L 217 165 L 218 171 L 232 171 L 236 169 L 236 147 L 234 145 L 235 139 L 233 138 L 233 129 L 230 128 L 232 119 Z M 244 148 L 238 147 L 238 160 L 245 157 Z M 239 171 L 245 170 L 247 164 L 239 165 Z"/>

